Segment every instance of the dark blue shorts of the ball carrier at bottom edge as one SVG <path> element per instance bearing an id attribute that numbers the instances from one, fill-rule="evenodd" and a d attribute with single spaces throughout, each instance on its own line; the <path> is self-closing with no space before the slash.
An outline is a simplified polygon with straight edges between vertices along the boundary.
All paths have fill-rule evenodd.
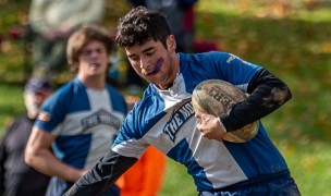
<path id="1" fill-rule="evenodd" d="M 289 171 L 277 177 L 240 183 L 218 191 L 199 192 L 199 196 L 301 196 L 298 187 Z"/>

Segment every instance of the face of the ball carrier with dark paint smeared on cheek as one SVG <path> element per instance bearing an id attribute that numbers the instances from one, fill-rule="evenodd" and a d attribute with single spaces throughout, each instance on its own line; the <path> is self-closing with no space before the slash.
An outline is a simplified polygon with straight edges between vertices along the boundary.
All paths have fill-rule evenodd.
<path id="1" fill-rule="evenodd" d="M 168 37 L 167 44 L 168 49 L 160 41 L 151 39 L 144 45 L 125 48 L 128 61 L 137 74 L 161 89 L 171 86 L 179 72 L 172 35 Z"/>

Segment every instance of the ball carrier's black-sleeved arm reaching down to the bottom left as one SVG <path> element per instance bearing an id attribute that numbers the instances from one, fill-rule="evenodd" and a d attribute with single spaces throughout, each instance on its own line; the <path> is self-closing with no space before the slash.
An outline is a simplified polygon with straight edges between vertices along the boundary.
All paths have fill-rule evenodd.
<path id="1" fill-rule="evenodd" d="M 138 159 L 109 151 L 89 172 L 79 179 L 64 195 L 100 195 L 108 189 Z"/>

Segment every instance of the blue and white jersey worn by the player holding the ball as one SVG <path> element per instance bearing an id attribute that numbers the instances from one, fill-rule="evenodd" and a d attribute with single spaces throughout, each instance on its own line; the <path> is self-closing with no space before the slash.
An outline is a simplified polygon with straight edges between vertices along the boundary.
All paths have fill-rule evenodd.
<path id="1" fill-rule="evenodd" d="M 128 113 L 112 150 L 139 158 L 147 146 L 156 146 L 184 164 L 198 191 L 225 187 L 237 182 L 287 170 L 262 124 L 249 142 L 235 144 L 205 138 L 196 128 L 192 91 L 206 79 L 223 79 L 246 91 L 261 69 L 225 52 L 180 56 L 180 72 L 173 86 L 160 90 L 150 84 L 143 99 Z"/>

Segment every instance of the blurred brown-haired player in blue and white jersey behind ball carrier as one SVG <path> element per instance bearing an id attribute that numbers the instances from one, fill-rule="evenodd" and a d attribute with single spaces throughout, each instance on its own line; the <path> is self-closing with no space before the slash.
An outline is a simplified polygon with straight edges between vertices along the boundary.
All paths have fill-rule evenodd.
<path id="1" fill-rule="evenodd" d="M 112 48 L 108 33 L 96 26 L 84 26 L 69 39 L 75 77 L 45 101 L 25 151 L 28 164 L 52 176 L 49 196 L 62 196 L 98 162 L 126 114 L 124 97 L 106 84 Z M 105 194 L 115 196 L 120 189 L 113 185 Z"/>

